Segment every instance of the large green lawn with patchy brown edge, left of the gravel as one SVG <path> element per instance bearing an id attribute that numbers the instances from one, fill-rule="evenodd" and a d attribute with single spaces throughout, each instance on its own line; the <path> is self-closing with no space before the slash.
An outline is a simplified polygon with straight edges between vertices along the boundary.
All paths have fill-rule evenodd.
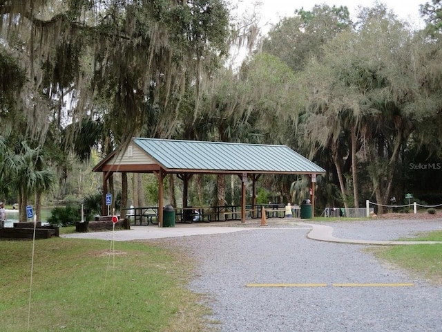
<path id="1" fill-rule="evenodd" d="M 192 261 L 114 244 L 37 240 L 30 293 L 32 241 L 0 241 L 1 331 L 204 331 L 208 309 L 186 288 Z"/>

